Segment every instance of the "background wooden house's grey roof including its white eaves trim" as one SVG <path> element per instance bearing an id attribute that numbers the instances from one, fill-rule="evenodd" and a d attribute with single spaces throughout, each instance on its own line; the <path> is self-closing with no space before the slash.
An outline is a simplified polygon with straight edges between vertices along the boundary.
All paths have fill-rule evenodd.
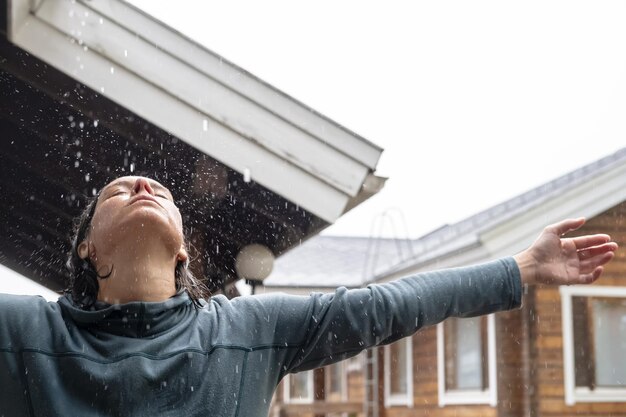
<path id="1" fill-rule="evenodd" d="M 515 248 L 526 247 L 530 243 L 528 239 L 536 236 L 536 227 L 528 224 L 530 220 L 521 219 L 522 216 L 539 217 L 536 223 L 545 226 L 568 215 L 591 217 L 625 200 L 626 148 L 623 148 L 418 239 L 312 238 L 279 258 L 265 284 L 270 288 L 359 286 L 420 268 L 455 266 L 510 255 L 515 253 Z M 541 216 L 536 215 L 538 212 Z M 511 232 L 513 223 L 528 224 L 523 237 Z M 505 228 L 510 235 L 506 244 L 487 242 L 497 240 L 494 231 L 498 228 Z M 510 241 L 515 244 L 512 246 Z M 374 250 L 375 246 L 378 249 Z M 403 253 L 400 247 L 404 248 Z M 457 256 L 470 251 L 470 257 Z M 453 262 L 441 263 L 455 256 Z M 380 261 L 374 262 L 374 258 Z M 372 262 L 374 268 L 368 266 Z"/>

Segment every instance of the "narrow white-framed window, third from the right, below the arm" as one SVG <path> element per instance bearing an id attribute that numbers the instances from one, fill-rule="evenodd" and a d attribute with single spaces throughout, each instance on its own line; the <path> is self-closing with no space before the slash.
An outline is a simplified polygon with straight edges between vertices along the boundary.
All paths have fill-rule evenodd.
<path id="1" fill-rule="evenodd" d="M 413 342 L 406 337 L 385 346 L 385 407 L 413 407 Z"/>

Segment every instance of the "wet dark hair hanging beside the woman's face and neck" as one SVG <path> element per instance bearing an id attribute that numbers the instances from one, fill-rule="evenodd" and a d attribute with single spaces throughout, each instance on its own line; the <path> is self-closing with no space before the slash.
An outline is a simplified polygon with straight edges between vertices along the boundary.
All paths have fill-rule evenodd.
<path id="1" fill-rule="evenodd" d="M 66 267 L 69 271 L 69 282 L 65 293 L 72 299 L 74 304 L 85 309 L 92 307 L 97 300 L 100 288 L 98 279 L 106 279 L 111 276 L 114 268 L 114 265 L 111 265 L 106 274 L 100 275 L 89 260 L 89 256 L 86 259 L 82 259 L 78 255 L 78 246 L 87 238 L 101 192 L 102 189 L 95 197 L 88 200 L 87 206 L 81 215 L 75 219 L 73 236 L 70 242 L 71 247 L 66 262 Z M 188 246 L 186 238 L 185 246 Z M 91 252 L 91 249 L 89 251 Z M 200 300 L 210 297 L 208 287 L 200 279 L 196 278 L 189 269 L 189 259 L 176 263 L 174 275 L 176 291 L 187 291 L 195 307 L 201 307 Z"/>

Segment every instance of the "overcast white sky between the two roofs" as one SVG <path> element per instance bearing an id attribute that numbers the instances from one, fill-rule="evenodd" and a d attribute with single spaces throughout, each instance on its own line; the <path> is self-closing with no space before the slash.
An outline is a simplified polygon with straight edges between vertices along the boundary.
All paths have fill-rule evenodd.
<path id="1" fill-rule="evenodd" d="M 132 3 L 385 149 L 325 233 L 418 237 L 626 146 L 624 1 Z"/>

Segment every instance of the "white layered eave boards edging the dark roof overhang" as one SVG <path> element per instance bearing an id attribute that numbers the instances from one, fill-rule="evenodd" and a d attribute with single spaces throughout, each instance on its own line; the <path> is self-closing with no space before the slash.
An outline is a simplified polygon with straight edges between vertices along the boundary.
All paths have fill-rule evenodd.
<path id="1" fill-rule="evenodd" d="M 128 3 L 8 3 L 13 44 L 329 223 L 382 187 L 381 148 Z"/>

